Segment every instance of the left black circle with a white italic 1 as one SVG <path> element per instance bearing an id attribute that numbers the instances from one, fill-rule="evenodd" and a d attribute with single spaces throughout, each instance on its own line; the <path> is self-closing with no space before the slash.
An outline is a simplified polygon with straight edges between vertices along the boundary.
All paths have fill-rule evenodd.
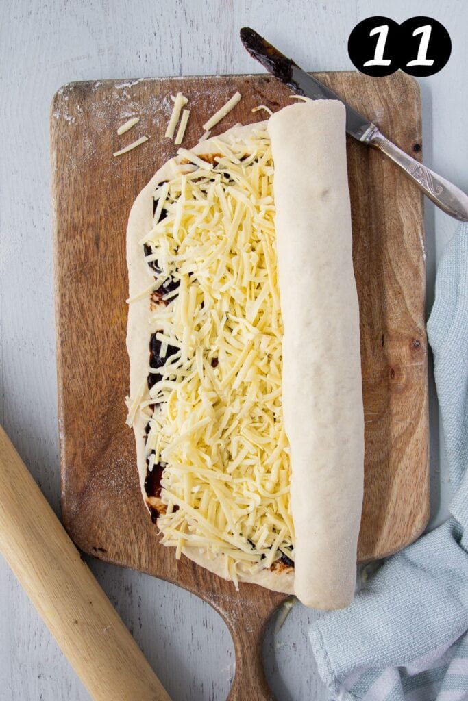
<path id="1" fill-rule="evenodd" d="M 388 17 L 362 20 L 349 34 L 349 58 L 361 73 L 389 76 L 399 69 L 399 32 L 399 24 Z"/>

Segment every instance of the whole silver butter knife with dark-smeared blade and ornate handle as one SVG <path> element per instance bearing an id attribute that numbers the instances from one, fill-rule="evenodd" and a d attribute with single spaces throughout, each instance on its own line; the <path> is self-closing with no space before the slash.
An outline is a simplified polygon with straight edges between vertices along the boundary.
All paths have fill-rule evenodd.
<path id="1" fill-rule="evenodd" d="M 382 151 L 413 179 L 424 195 L 443 212 L 459 219 L 460 222 L 468 222 L 468 196 L 462 190 L 392 144 L 373 122 L 356 112 L 338 95 L 335 95 L 333 90 L 303 71 L 292 59 L 284 56 L 253 29 L 243 27 L 241 41 L 248 53 L 260 61 L 275 78 L 285 83 L 293 93 L 310 97 L 312 100 L 340 100 L 346 108 L 346 130 L 350 136 Z"/>

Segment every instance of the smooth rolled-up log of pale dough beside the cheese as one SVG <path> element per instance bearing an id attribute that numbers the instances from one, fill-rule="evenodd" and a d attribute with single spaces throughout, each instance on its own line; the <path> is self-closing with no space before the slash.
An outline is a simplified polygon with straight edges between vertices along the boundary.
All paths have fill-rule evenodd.
<path id="1" fill-rule="evenodd" d="M 295 594 L 354 597 L 363 498 L 359 306 L 345 107 L 293 104 L 268 122 L 283 315 L 283 417 L 291 451 Z"/>

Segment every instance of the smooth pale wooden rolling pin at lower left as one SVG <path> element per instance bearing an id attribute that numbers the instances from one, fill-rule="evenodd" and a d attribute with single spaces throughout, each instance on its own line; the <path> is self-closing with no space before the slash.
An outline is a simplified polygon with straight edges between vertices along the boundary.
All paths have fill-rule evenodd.
<path id="1" fill-rule="evenodd" d="M 171 701 L 1 426 L 0 552 L 95 701 Z"/>

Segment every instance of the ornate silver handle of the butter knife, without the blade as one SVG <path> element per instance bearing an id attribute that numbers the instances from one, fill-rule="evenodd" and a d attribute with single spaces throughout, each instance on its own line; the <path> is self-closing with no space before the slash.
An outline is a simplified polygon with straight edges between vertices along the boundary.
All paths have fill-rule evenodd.
<path id="1" fill-rule="evenodd" d="M 441 210 L 459 219 L 460 222 L 468 222 L 468 195 L 460 188 L 437 175 L 433 170 L 429 170 L 415 158 L 408 156 L 381 134 L 374 124 L 366 130 L 360 141 L 374 149 L 379 149 L 385 156 L 391 158 Z"/>

